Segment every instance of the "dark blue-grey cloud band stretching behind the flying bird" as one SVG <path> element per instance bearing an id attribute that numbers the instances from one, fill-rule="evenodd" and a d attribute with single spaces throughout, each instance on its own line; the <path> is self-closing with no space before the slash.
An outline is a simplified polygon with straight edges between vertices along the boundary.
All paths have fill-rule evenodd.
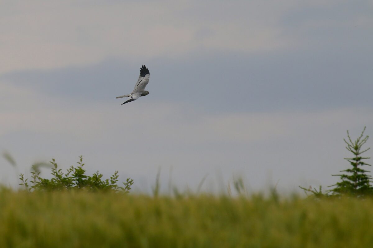
<path id="1" fill-rule="evenodd" d="M 365 48 L 356 49 L 326 47 L 267 55 L 214 52 L 154 59 L 146 63 L 151 94 L 141 102 L 172 102 L 210 113 L 367 106 L 373 104 L 373 60 Z M 82 67 L 7 73 L 0 81 L 41 97 L 64 98 L 61 106 L 71 99 L 100 105 L 131 92 L 140 65 L 108 59 Z"/>

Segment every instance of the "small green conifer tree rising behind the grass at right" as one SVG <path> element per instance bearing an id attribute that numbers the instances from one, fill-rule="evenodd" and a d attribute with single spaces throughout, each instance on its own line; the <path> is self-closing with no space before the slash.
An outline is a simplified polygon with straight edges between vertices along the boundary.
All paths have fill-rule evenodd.
<path id="1" fill-rule="evenodd" d="M 348 141 L 346 141 L 346 139 L 343 139 L 347 144 L 346 149 L 352 152 L 352 154 L 354 154 L 354 157 L 345 158 L 345 160 L 350 162 L 350 164 L 352 165 L 352 168 L 341 171 L 345 172 L 346 174 L 333 175 L 339 176 L 342 180 L 336 184 L 329 186 L 335 186 L 334 189 L 329 190 L 329 192 L 333 195 L 350 194 L 353 196 L 365 196 L 373 194 L 373 187 L 370 185 L 370 183 L 372 182 L 372 177 L 366 174 L 370 171 L 361 168 L 363 165 L 370 165 L 364 162 L 366 159 L 369 158 L 361 156 L 361 154 L 370 149 L 362 149 L 363 145 L 368 141 L 369 138 L 369 136 L 363 137 L 365 129 L 366 127 L 364 127 L 363 132 L 361 132 L 361 135 L 354 142 L 351 140 L 350 133 L 348 131 Z"/>

